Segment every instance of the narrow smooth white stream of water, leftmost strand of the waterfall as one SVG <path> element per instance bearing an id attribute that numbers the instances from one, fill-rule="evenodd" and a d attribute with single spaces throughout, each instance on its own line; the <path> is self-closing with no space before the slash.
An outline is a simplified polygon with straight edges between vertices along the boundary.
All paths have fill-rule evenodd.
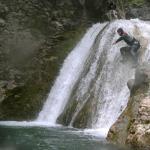
<path id="1" fill-rule="evenodd" d="M 77 82 L 87 57 L 90 54 L 91 46 L 97 34 L 104 28 L 104 24 L 95 24 L 90 28 L 83 39 L 72 50 L 66 58 L 60 74 L 57 77 L 54 86 L 48 96 L 43 110 L 40 112 L 38 121 L 46 121 L 51 124 L 56 123 L 57 117 L 63 111 L 69 96 Z"/>

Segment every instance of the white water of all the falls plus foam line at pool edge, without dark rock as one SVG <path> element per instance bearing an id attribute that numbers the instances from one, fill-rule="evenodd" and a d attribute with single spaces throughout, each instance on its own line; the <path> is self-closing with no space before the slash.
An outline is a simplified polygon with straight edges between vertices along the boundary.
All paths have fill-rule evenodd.
<path id="1" fill-rule="evenodd" d="M 93 51 L 92 45 L 96 36 L 105 25 L 96 24 L 90 28 L 79 44 L 68 55 L 37 120 L 34 122 L 21 122 L 20 125 L 56 125 L 56 120 L 63 112 L 71 92 L 84 70 L 86 60 L 91 51 Z M 93 92 L 97 104 L 97 111 L 93 114 L 92 129 L 86 129 L 87 134 L 93 133 L 106 136 L 110 126 L 125 109 L 130 95 L 126 83 L 134 77 L 135 69 L 132 68 L 130 62 L 125 64 L 120 62 L 119 49 L 125 44 L 120 42 L 112 46 L 112 43 L 118 38 L 116 30 L 119 27 L 123 27 L 129 34 L 140 40 L 143 50 L 145 50 L 140 57 L 140 63 L 150 60 L 150 25 L 148 23 L 139 20 L 119 20 L 111 23 L 105 29 L 99 48 L 93 51 L 95 53 L 94 61 L 92 61 L 86 76 L 81 79 L 77 91 L 79 100 L 82 100 L 85 94 L 90 95 L 90 92 Z M 104 51 L 105 62 L 96 78 L 96 71 L 100 67 L 99 60 L 102 58 L 100 56 Z M 93 79 L 95 84 L 88 91 Z M 78 115 L 78 110 L 74 118 L 76 115 Z M 0 124 L 17 125 L 19 122 L 1 122 Z"/>

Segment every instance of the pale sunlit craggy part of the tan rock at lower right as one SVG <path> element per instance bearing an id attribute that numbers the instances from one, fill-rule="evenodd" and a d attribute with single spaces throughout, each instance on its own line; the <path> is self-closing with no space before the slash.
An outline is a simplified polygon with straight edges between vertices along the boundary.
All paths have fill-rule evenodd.
<path id="1" fill-rule="evenodd" d="M 130 126 L 127 143 L 138 147 L 150 148 L 150 97 L 144 97 L 138 109 L 138 117 Z"/>

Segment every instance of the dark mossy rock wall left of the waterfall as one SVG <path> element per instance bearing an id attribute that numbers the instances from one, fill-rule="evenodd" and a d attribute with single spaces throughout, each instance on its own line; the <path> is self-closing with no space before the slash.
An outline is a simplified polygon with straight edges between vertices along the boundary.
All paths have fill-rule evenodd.
<path id="1" fill-rule="evenodd" d="M 89 22 L 104 18 L 106 2 L 0 1 L 0 120 L 38 115 L 64 58 Z"/>

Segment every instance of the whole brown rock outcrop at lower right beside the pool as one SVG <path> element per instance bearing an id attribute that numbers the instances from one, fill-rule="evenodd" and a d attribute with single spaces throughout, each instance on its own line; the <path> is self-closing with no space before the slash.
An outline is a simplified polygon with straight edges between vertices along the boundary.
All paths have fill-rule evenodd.
<path id="1" fill-rule="evenodd" d="M 129 144 L 141 150 L 150 149 L 150 68 L 140 66 L 132 81 L 128 106 L 111 127 L 107 139 Z"/>

